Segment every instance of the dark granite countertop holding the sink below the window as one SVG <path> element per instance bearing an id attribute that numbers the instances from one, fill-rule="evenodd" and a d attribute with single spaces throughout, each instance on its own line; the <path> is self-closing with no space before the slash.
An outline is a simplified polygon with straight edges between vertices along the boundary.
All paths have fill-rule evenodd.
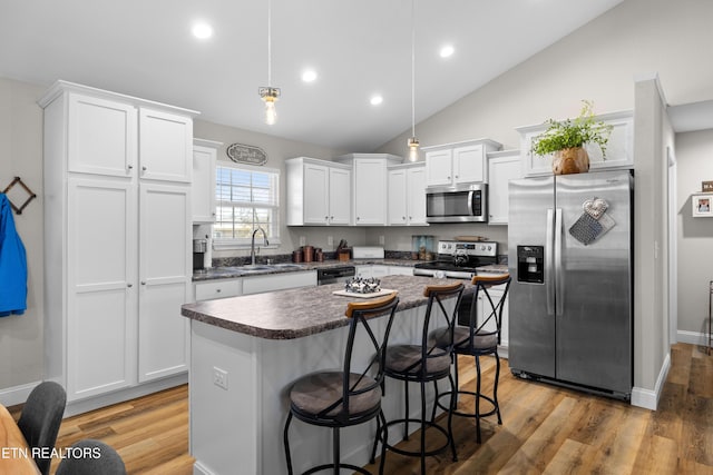
<path id="1" fill-rule="evenodd" d="M 351 259 L 351 260 L 324 260 L 323 263 L 284 263 L 273 265 L 270 269 L 256 269 L 251 270 L 248 266 L 228 266 L 228 267 L 212 267 L 204 273 L 195 273 L 193 275 L 193 281 L 203 280 L 216 280 L 216 279 L 234 279 L 237 277 L 250 277 L 255 275 L 266 274 L 283 274 L 295 273 L 301 270 L 316 270 L 320 268 L 341 267 L 341 266 L 400 266 L 400 267 L 413 267 L 416 264 L 422 263 L 422 260 L 411 259 Z"/>

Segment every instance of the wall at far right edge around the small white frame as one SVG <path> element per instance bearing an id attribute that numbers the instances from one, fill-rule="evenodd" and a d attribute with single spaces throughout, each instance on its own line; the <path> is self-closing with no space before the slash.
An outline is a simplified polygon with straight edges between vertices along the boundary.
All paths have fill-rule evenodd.
<path id="1" fill-rule="evenodd" d="M 713 280 L 713 218 L 693 218 L 691 195 L 713 180 L 713 130 L 676 135 L 678 239 L 678 337 L 703 344 L 709 283 Z"/>

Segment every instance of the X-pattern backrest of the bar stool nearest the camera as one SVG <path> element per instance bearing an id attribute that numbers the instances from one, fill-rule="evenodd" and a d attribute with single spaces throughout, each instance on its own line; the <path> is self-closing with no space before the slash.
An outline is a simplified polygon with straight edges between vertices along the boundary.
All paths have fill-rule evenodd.
<path id="1" fill-rule="evenodd" d="M 393 316 L 395 314 L 397 306 L 399 305 L 399 297 L 397 293 L 389 294 L 385 297 L 374 298 L 367 301 L 352 301 L 346 306 L 344 315 L 350 318 L 349 325 L 349 338 L 346 340 L 346 349 L 344 352 L 344 383 L 343 383 L 343 400 L 339 399 L 334 404 L 322 410 L 322 415 L 329 414 L 335 407 L 342 405 L 342 414 L 336 417 L 338 420 L 350 416 L 349 399 L 350 397 L 358 396 L 363 393 L 375 389 L 381 386 L 383 382 L 383 367 L 387 344 L 389 342 L 389 334 L 391 333 L 391 325 L 393 323 Z M 377 337 L 370 325 L 370 319 L 381 315 L 388 314 L 387 327 L 381 338 Z M 350 374 L 352 373 L 352 354 L 354 347 L 354 339 L 356 338 L 356 330 L 363 328 L 369 337 L 369 342 L 373 345 L 374 355 L 361 372 L 361 376 L 355 383 L 350 384 Z M 373 379 L 372 384 L 360 385 L 364 380 L 364 377 L 369 376 Z M 359 386 L 359 387 L 358 387 Z"/>

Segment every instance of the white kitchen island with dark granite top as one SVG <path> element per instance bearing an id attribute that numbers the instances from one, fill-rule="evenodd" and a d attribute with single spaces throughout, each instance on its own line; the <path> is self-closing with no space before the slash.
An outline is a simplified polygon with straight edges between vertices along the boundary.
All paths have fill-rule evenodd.
<path id="1" fill-rule="evenodd" d="M 430 277 L 382 278 L 381 287 L 398 290 L 400 298 L 390 343 L 419 340 L 427 303 L 423 288 L 434 281 Z M 471 293 L 470 284 L 466 286 Z M 344 310 L 349 301 L 356 300 L 332 294 L 342 288 L 333 284 L 183 306 L 182 315 L 191 319 L 194 474 L 286 473 L 282 444 L 286 392 L 302 375 L 341 366 L 349 323 Z M 371 356 L 367 348 L 365 342 L 356 345 L 358 360 Z M 432 399 L 432 387 L 428 389 Z M 410 395 L 416 415 L 419 392 Z M 403 397 L 403 384 L 388 380 L 382 402 L 388 419 L 402 416 Z M 368 464 L 374 432 L 375 422 L 343 431 L 342 458 Z M 393 442 L 399 438 L 391 435 Z M 329 429 L 295 423 L 290 439 L 296 472 L 331 461 Z"/>

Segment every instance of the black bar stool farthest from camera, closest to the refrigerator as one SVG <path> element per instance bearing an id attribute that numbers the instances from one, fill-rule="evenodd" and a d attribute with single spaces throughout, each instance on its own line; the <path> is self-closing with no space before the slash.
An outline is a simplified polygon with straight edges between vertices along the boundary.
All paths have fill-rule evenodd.
<path id="1" fill-rule="evenodd" d="M 436 345 L 441 348 L 447 348 L 449 343 L 452 342 L 452 358 L 456 369 L 456 387 L 457 395 L 470 395 L 476 399 L 475 413 L 463 413 L 456 408 L 452 403 L 452 395 L 450 402 L 450 413 L 457 416 L 471 417 L 476 419 L 476 437 L 478 444 L 481 442 L 480 437 L 480 418 L 496 414 L 498 416 L 498 424 L 502 425 L 502 418 L 500 417 L 500 406 L 498 404 L 498 379 L 500 377 L 500 357 L 498 356 L 498 345 L 500 344 L 500 333 L 502 323 L 502 309 L 507 299 L 508 290 L 510 288 L 510 275 L 499 274 L 496 276 L 473 276 L 471 280 L 476 286 L 476 291 L 472 295 L 472 305 L 470 306 L 469 325 L 456 326 L 453 329 L 445 327 L 439 328 L 431 333 L 431 339 L 436 342 Z M 502 296 L 497 300 L 494 300 L 490 295 L 490 288 L 494 286 L 505 285 Z M 478 300 L 482 300 L 481 306 L 481 319 L 478 320 Z M 452 337 L 451 337 L 452 335 Z M 470 355 L 476 360 L 476 392 L 460 389 L 458 385 L 458 355 Z M 492 387 L 492 396 L 486 396 L 480 390 L 480 357 L 486 355 L 494 355 L 496 360 L 495 382 Z M 436 388 L 438 393 L 438 387 Z M 442 409 L 449 410 L 440 403 L 440 397 L 448 396 L 448 393 L 443 393 L 436 396 L 436 405 Z M 480 400 L 485 399 L 492 408 L 490 410 L 480 410 Z M 436 409 L 436 407 L 433 408 Z M 433 410 L 436 412 L 436 410 Z"/>

